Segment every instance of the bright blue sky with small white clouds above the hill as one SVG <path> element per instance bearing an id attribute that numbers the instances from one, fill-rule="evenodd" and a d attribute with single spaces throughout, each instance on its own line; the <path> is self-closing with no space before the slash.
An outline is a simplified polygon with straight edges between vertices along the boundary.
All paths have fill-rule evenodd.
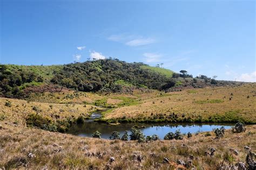
<path id="1" fill-rule="evenodd" d="M 256 81 L 255 1 L 12 1 L 1 63 L 112 57 L 218 80 Z"/>

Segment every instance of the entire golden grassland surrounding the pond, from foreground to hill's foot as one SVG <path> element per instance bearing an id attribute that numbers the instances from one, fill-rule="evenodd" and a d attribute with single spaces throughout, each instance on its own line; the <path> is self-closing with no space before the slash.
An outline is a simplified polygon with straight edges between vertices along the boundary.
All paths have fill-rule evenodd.
<path id="1" fill-rule="evenodd" d="M 26 100 L 0 98 L 0 167 L 5 169 L 219 169 L 245 162 L 244 146 L 256 149 L 256 125 L 246 132 L 226 130 L 182 140 L 137 141 L 82 138 L 42 130 L 39 123 L 65 126 L 91 112 L 111 107 L 101 121 L 115 122 L 245 122 L 256 123 L 256 83 L 242 86 L 186 89 L 163 93 L 134 90 L 96 94 L 73 90 L 30 94 Z M 32 116 L 31 116 L 32 115 Z M 29 121 L 28 121 L 29 120 Z M 40 124 L 39 124 L 40 125 Z M 28 128 L 29 127 L 29 128 Z M 41 128 L 41 129 L 38 129 Z M 54 128 L 54 127 L 53 127 Z M 64 127 L 65 128 L 65 127 Z M 64 129 L 63 128 L 63 129 Z M 62 130 L 63 130 L 62 129 Z M 215 148 L 213 157 L 205 151 Z M 235 155 L 231 148 L 238 151 Z M 29 153 L 31 154 L 29 156 Z M 111 162 L 110 158 L 114 161 Z M 164 158 L 170 161 L 164 163 Z"/>

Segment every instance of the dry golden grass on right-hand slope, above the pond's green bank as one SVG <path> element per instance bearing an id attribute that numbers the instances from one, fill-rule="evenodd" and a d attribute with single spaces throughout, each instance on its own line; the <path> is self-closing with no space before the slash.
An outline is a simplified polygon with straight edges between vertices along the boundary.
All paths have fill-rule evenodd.
<path id="1" fill-rule="evenodd" d="M 231 95 L 233 94 L 233 95 Z M 231 98 L 231 100 L 230 100 Z M 220 103 L 215 103 L 215 102 Z M 111 118 L 142 118 L 151 114 L 170 114 L 178 116 L 210 116 L 225 115 L 235 111 L 246 120 L 256 123 L 256 83 L 235 87 L 217 87 L 193 89 L 157 95 L 142 100 L 141 104 L 120 107 L 105 114 L 104 119 Z"/>

